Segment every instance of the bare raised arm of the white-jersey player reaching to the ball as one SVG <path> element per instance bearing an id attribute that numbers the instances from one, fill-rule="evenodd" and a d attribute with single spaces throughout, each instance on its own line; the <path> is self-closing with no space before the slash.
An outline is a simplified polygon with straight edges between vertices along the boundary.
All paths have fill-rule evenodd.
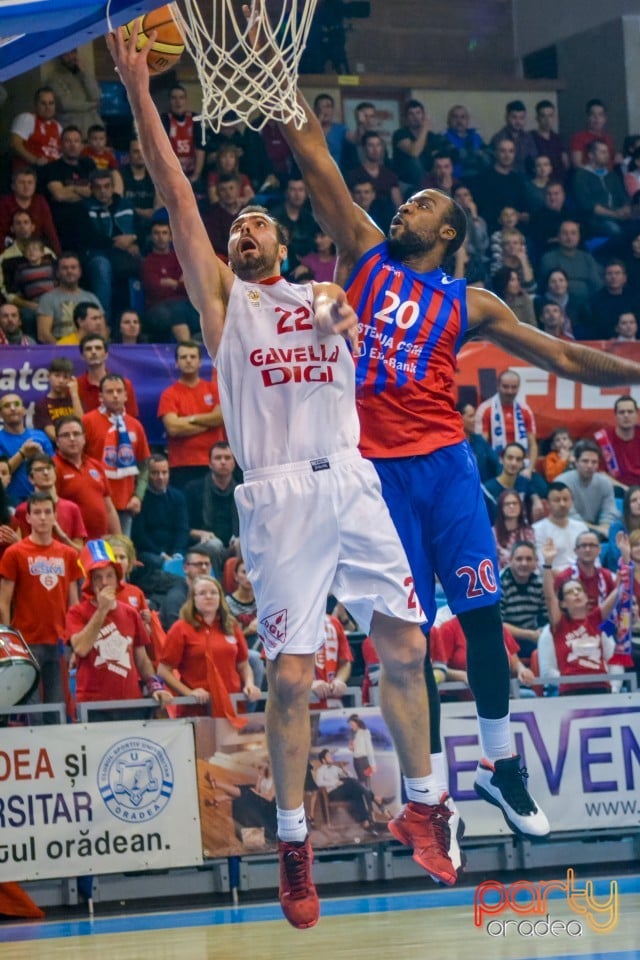
<path id="1" fill-rule="evenodd" d="M 122 31 L 107 37 L 107 45 L 133 111 L 145 163 L 169 211 L 176 254 L 189 299 L 200 314 L 205 345 L 212 356 L 218 348 L 233 274 L 220 261 L 204 229 L 191 184 L 182 172 L 149 93 L 147 47 L 136 50 L 139 25 L 125 42 Z M 149 43 L 154 34 L 151 34 Z"/>

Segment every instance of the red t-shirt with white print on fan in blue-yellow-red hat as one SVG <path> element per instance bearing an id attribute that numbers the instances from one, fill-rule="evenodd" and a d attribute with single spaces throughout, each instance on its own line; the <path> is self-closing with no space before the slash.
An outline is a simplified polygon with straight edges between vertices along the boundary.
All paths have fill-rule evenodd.
<path id="1" fill-rule="evenodd" d="M 67 636 L 83 630 L 96 612 L 93 600 L 81 600 L 67 614 Z M 85 657 L 78 657 L 76 699 L 136 700 L 142 696 L 140 675 L 133 651 L 144 647 L 149 635 L 140 614 L 127 603 L 118 602 L 107 614 L 98 639 Z"/>

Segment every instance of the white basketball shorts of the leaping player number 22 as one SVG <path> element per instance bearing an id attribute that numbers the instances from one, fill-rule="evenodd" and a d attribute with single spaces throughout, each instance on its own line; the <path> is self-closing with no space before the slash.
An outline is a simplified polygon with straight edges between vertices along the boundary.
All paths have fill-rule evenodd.
<path id="1" fill-rule="evenodd" d="M 235 498 L 269 659 L 322 645 L 329 594 L 364 632 L 374 610 L 424 622 L 380 481 L 358 451 L 250 470 Z"/>

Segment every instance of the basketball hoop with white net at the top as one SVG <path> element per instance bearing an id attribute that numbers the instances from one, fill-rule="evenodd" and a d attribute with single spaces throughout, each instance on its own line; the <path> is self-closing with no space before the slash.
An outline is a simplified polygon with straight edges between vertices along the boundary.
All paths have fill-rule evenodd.
<path id="1" fill-rule="evenodd" d="M 317 0 L 263 0 L 253 12 L 255 39 L 237 0 L 209 2 L 208 22 L 198 6 L 207 0 L 171 4 L 202 87 L 199 119 L 215 131 L 234 119 L 253 130 L 269 120 L 300 128 L 305 115 L 296 97 L 298 66 Z"/>

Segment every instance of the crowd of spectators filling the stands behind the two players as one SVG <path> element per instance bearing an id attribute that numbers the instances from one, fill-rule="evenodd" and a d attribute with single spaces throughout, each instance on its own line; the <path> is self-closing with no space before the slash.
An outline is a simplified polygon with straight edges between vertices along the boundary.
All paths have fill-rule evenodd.
<path id="1" fill-rule="evenodd" d="M 52 360 L 32 424 L 19 392 L 0 398 L 0 620 L 32 645 L 46 701 L 61 696 L 66 637 L 79 697 L 131 696 L 144 681 L 161 704 L 171 690 L 192 695 L 196 712 L 227 716 L 229 695 L 253 702 L 265 683 L 238 539 L 240 471 L 215 376 L 201 376 L 198 316 L 166 211 L 138 141 L 125 154 L 113 150 L 98 106 L 72 51 L 35 91 L 33 110 L 11 124 L 10 184 L 0 195 L 0 344 L 77 345 L 83 372 L 76 376 L 66 356 Z M 436 132 L 425 105 L 409 100 L 388 144 L 374 103 L 357 106 L 354 129 L 336 121 L 329 94 L 316 97 L 314 110 L 354 202 L 383 230 L 411 193 L 443 190 L 468 221 L 449 272 L 489 287 L 522 322 L 560 338 L 637 339 L 640 137 L 618 150 L 599 100 L 589 101 L 585 129 L 568 144 L 548 100 L 536 105 L 533 128 L 525 105 L 509 102 L 504 125 L 486 138 L 464 105 L 453 105 Z M 335 249 L 274 124 L 259 134 L 234 123 L 203 136 L 180 84 L 169 90 L 163 122 L 221 258 L 233 218 L 260 203 L 286 235 L 286 276 L 331 279 Z M 135 384 L 108 367 L 110 344 L 142 342 L 175 344 L 176 380 L 157 408 L 166 444 L 153 450 Z M 630 665 L 637 605 L 625 634 L 626 608 L 609 598 L 622 590 L 618 567 L 640 598 L 637 404 L 618 398 L 615 429 L 574 445 L 568 427 L 538 438 L 519 389 L 517 373 L 506 370 L 477 411 L 459 407 L 495 525 L 513 676 L 531 686 L 545 636 L 548 671 L 578 662 L 606 672 L 612 652 Z M 598 646 L 594 611 L 604 622 L 610 608 L 614 639 Z M 432 641 L 441 679 L 464 679 L 462 632 L 442 629 Z M 325 633 L 315 699 L 340 703 L 352 652 L 339 619 L 328 618 Z"/>

